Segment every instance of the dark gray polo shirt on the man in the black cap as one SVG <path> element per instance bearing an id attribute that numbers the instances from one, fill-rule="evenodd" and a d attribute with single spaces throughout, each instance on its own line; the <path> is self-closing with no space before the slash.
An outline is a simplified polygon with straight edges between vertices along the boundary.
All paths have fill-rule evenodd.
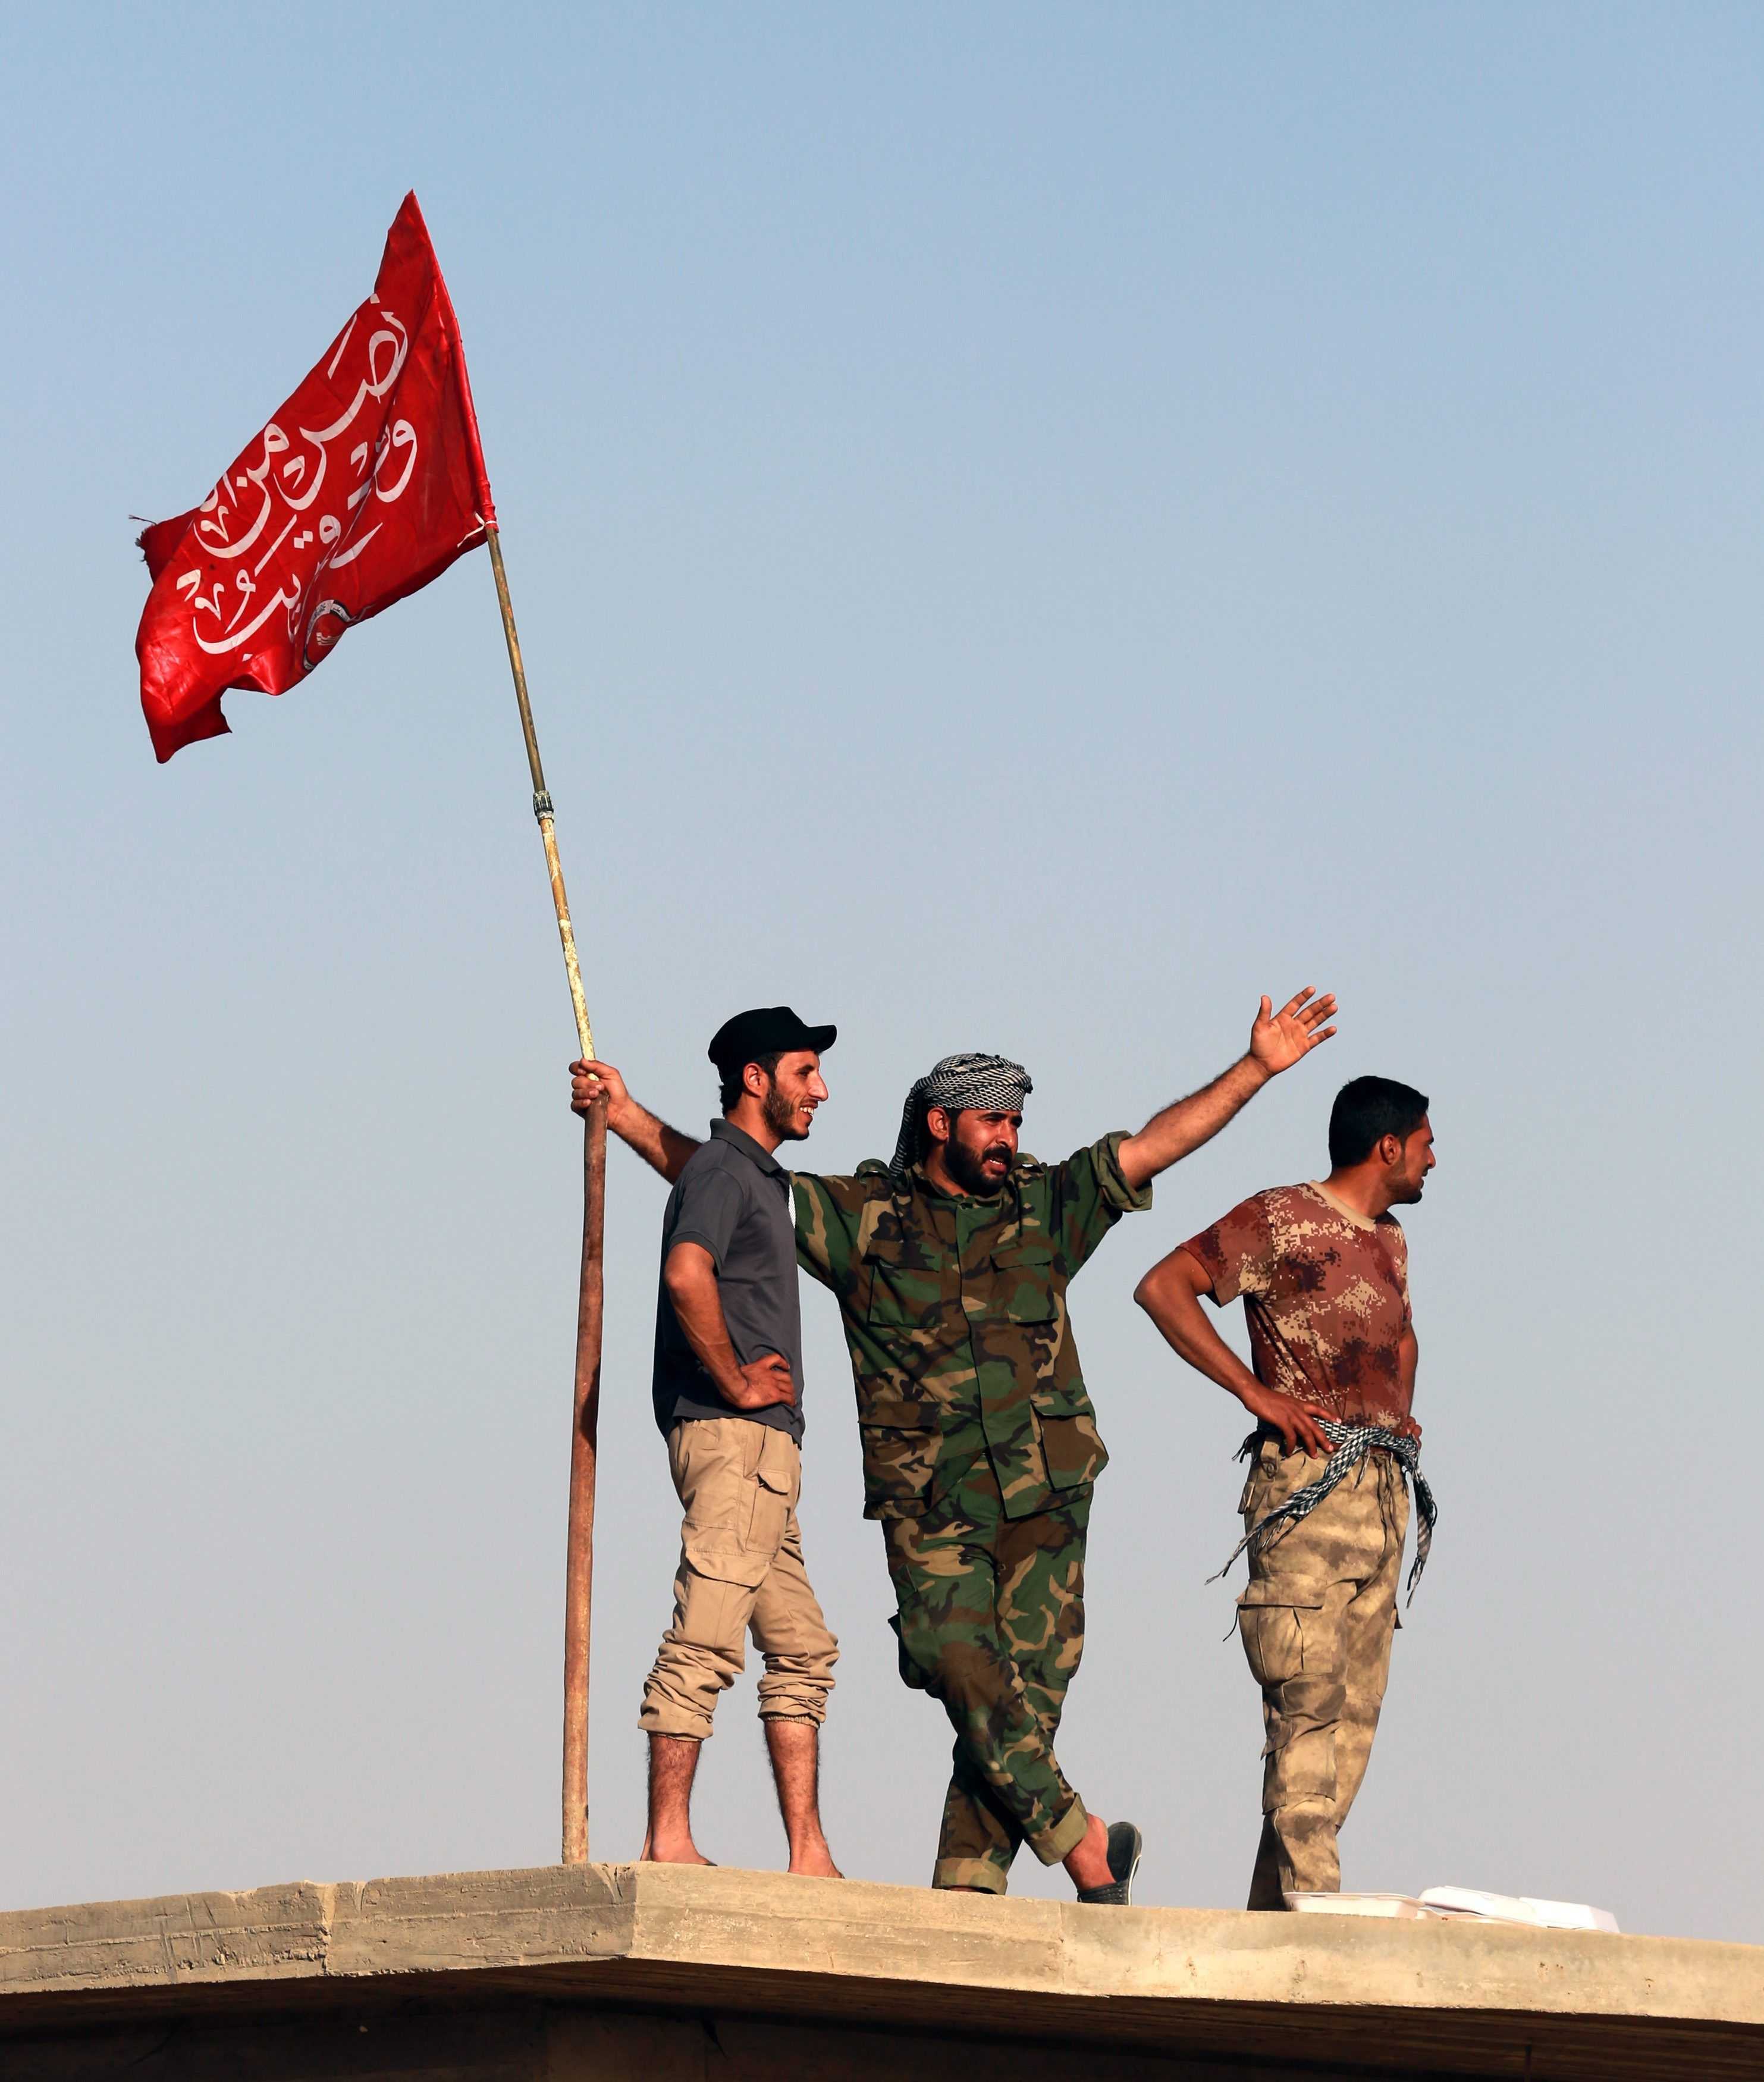
<path id="1" fill-rule="evenodd" d="M 737 1410 L 698 1364 L 666 1280 L 656 1297 L 656 1424 L 681 1418 L 750 1418 L 802 1441 L 802 1299 L 796 1287 L 796 1208 L 789 1172 L 752 1135 L 710 1122 L 710 1141 L 687 1160 L 662 1216 L 662 1266 L 677 1243 L 700 1243 L 716 1266 L 716 1295 L 741 1366 L 768 1351 L 789 1360 L 793 1403 Z"/>

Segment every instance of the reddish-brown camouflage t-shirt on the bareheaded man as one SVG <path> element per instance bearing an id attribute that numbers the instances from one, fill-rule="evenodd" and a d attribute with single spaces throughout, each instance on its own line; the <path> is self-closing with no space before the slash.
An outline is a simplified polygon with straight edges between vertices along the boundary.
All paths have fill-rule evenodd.
<path id="1" fill-rule="evenodd" d="M 1408 1241 L 1393 1214 L 1368 1222 L 1320 1185 L 1277 1185 L 1183 1249 L 1212 1280 L 1216 1307 L 1243 1295 L 1262 1387 L 1347 1424 L 1408 1416 L 1397 1364 L 1410 1326 Z"/>

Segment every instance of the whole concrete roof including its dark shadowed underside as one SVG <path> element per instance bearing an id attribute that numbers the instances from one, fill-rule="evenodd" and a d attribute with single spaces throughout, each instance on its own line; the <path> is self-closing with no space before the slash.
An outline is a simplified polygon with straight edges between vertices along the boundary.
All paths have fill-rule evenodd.
<path id="1" fill-rule="evenodd" d="M 0 1915 L 8 2082 L 1039 2082 L 1079 2059 L 1100 2082 L 1758 2078 L 1764 1949 L 679 1865 Z"/>

